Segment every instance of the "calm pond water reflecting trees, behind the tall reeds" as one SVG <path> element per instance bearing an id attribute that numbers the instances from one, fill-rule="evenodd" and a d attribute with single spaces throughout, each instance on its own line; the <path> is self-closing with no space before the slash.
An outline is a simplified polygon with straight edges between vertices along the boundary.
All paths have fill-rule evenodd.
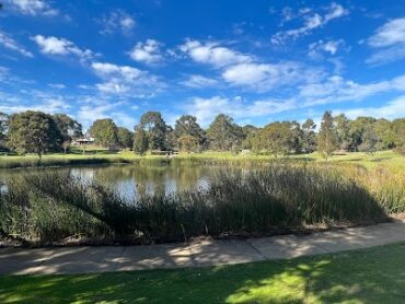
<path id="1" fill-rule="evenodd" d="M 47 169 L 68 172 L 82 183 L 95 180 L 116 189 L 126 198 L 175 191 L 207 189 L 216 168 L 197 164 L 97 165 L 59 168 L 28 168 L 0 171 L 0 189 L 7 190 L 8 180 L 26 173 Z"/>

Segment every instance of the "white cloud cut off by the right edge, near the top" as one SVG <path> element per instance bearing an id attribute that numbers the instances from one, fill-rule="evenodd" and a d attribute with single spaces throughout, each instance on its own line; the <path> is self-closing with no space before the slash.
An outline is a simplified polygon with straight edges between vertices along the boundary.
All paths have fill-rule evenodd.
<path id="1" fill-rule="evenodd" d="M 383 65 L 405 58 L 405 17 L 394 19 L 377 28 L 368 45 L 378 49 L 366 62 Z"/>

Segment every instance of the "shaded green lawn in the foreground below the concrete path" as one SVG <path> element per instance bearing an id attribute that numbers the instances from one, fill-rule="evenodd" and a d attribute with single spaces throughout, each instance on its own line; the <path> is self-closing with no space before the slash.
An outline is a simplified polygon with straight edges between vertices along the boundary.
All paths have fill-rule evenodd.
<path id="1" fill-rule="evenodd" d="M 404 303 L 405 244 L 236 266 L 0 276 L 1 303 Z"/>

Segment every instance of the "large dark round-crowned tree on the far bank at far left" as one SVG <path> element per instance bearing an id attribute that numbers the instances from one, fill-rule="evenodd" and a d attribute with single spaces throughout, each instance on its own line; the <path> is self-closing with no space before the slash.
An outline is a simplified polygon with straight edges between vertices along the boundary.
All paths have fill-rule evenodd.
<path id="1" fill-rule="evenodd" d="M 42 112 L 27 110 L 10 117 L 9 145 L 19 153 L 36 153 L 39 159 L 46 152 L 57 151 L 62 136 L 54 118 Z"/>

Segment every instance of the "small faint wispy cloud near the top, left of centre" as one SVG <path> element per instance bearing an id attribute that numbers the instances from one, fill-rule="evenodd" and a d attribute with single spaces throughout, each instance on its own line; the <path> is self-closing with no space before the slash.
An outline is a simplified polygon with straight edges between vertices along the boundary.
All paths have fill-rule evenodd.
<path id="1" fill-rule="evenodd" d="M 102 24 L 103 30 L 101 34 L 113 34 L 120 31 L 124 34 L 129 34 L 137 25 L 135 19 L 123 10 L 116 10 L 102 17 L 99 23 Z"/>

